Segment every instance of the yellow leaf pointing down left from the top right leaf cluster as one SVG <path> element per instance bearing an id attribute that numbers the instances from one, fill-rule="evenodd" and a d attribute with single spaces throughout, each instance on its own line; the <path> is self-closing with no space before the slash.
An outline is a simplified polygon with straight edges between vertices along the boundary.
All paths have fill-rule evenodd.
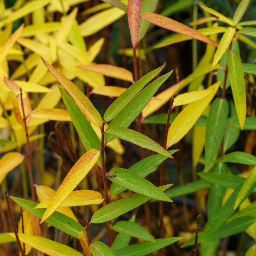
<path id="1" fill-rule="evenodd" d="M 221 38 L 220 44 L 215 52 L 212 67 L 215 66 L 219 62 L 221 57 L 224 55 L 227 48 L 230 46 L 230 43 L 232 42 L 235 33 L 236 29 L 233 27 L 229 27 L 227 31 L 224 33 L 224 35 Z"/>

